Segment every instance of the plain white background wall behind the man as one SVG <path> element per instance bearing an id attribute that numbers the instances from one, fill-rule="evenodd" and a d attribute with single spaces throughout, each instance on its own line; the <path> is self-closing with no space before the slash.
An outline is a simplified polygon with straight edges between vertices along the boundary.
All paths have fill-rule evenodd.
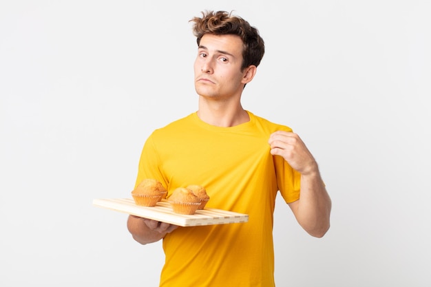
<path id="1" fill-rule="evenodd" d="M 426 0 L 1 1 L 0 286 L 157 286 L 160 242 L 92 200 L 129 197 L 147 136 L 196 111 L 206 9 L 260 30 L 244 108 L 302 136 L 333 200 L 317 239 L 277 199 L 277 286 L 431 286 Z"/>

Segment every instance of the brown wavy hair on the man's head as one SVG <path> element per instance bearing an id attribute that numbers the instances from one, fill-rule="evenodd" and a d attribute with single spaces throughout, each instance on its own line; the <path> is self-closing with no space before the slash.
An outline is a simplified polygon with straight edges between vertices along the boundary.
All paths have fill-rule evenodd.
<path id="1" fill-rule="evenodd" d="M 265 53 L 264 40 L 259 31 L 241 17 L 226 11 L 205 11 L 202 18 L 194 17 L 190 22 L 193 22 L 193 35 L 198 45 L 204 34 L 237 35 L 243 43 L 241 69 L 260 64 Z"/>

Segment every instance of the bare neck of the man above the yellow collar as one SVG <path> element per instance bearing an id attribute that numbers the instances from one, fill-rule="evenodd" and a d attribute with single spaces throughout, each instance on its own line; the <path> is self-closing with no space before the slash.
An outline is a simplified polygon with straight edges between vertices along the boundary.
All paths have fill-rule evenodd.
<path id="1" fill-rule="evenodd" d="M 209 102 L 199 98 L 198 117 L 209 125 L 217 127 L 234 127 L 250 120 L 249 114 L 241 103 Z"/>

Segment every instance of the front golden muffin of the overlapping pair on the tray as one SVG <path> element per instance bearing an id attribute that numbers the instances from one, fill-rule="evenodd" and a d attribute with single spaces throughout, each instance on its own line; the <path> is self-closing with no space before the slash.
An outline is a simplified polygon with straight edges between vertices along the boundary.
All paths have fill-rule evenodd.
<path id="1" fill-rule="evenodd" d="M 185 187 L 175 189 L 168 201 L 171 203 L 174 213 L 194 214 L 200 206 L 200 199 L 193 191 Z"/>

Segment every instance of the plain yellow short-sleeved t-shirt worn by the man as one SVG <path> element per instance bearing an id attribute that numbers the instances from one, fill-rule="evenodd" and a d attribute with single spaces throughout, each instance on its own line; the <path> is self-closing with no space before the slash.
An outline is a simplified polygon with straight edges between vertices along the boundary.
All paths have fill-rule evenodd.
<path id="1" fill-rule="evenodd" d="M 206 207 L 249 215 L 246 223 L 179 227 L 163 239 L 162 287 L 274 285 L 273 211 L 280 190 L 299 199 L 300 175 L 272 156 L 269 135 L 291 131 L 248 112 L 250 121 L 215 127 L 196 113 L 157 129 L 145 142 L 136 184 L 156 178 L 168 189 L 200 184 Z"/>

